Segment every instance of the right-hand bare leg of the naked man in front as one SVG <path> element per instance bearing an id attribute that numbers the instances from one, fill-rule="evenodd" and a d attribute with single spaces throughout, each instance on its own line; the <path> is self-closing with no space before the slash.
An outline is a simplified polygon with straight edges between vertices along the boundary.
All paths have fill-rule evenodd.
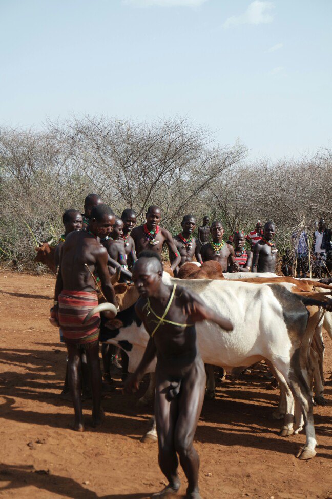
<path id="1" fill-rule="evenodd" d="M 174 444 L 180 464 L 188 479 L 187 497 L 199 499 L 199 457 L 193 439 L 204 400 L 206 374 L 201 359 L 197 360 L 182 380 L 179 394 L 179 414 L 175 427 Z"/>

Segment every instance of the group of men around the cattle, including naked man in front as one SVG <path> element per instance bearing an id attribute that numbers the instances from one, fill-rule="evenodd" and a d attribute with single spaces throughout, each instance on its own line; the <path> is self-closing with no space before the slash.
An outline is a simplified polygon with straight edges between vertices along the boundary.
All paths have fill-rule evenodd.
<path id="1" fill-rule="evenodd" d="M 92 311 L 100 295 L 111 303 L 107 318 L 114 318 L 119 306 L 111 283 L 114 273 L 121 273 L 122 281 L 132 280 L 140 295 L 135 310 L 144 323 L 150 340 L 143 358 L 132 377 L 127 380 L 128 392 L 138 388 L 146 366 L 157 358 L 155 414 L 159 445 L 159 465 L 169 484 L 157 497 L 178 491 L 179 455 L 188 479 L 187 497 L 199 499 L 199 458 L 193 438 L 200 415 L 205 372 L 199 354 L 195 323 L 215 322 L 223 330 L 232 330 L 231 322 L 212 311 L 201 299 L 183 287 L 162 282 L 161 252 L 167 245 L 171 270 L 176 274 L 185 262 L 196 257 L 198 263 L 215 260 L 224 272 L 274 272 L 277 249 L 273 242 L 276 227 L 272 222 L 247 236 L 252 250 L 245 250 L 243 231 L 234 234 L 234 247 L 223 241 L 224 229 L 220 221 L 209 227 L 208 217 L 193 236 L 196 219 L 185 215 L 182 231 L 173 238 L 160 226 L 161 212 L 150 206 L 146 223 L 136 225 L 132 209 L 116 217 L 113 210 L 91 194 L 85 200 L 84 214 L 67 210 L 63 217 L 65 233 L 56 248 L 59 265 L 51 321 L 60 327 L 68 350 L 68 380 L 75 419 L 73 429 L 84 431 L 81 404 L 80 367 L 82 350 L 87 357 L 92 389 L 92 425 L 102 423 L 102 376 L 99 360 L 99 314 Z M 212 240 L 209 240 L 210 234 Z M 136 262 L 138 257 L 138 261 Z M 99 293 L 99 296 L 98 296 Z M 157 325 L 156 325 L 157 324 Z"/>

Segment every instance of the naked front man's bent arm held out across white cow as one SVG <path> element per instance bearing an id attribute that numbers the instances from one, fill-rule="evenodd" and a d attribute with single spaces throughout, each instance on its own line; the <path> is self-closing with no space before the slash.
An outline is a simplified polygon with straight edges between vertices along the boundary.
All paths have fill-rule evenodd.
<path id="1" fill-rule="evenodd" d="M 183 305 L 184 313 L 188 314 L 193 322 L 201 322 L 210 320 L 218 324 L 220 328 L 226 331 L 233 331 L 232 322 L 223 315 L 215 312 L 210 306 L 206 305 L 203 300 L 193 291 L 181 288 L 179 298 Z"/>

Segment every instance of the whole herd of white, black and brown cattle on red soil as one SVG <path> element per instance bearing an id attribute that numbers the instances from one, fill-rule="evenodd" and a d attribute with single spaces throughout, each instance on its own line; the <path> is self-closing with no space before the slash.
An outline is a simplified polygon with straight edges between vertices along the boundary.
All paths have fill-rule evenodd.
<path id="1" fill-rule="evenodd" d="M 45 250 L 50 255 L 44 246 Z M 47 263 L 45 259 L 43 263 Z M 196 325 L 201 356 L 207 364 L 207 391 L 215 391 L 213 366 L 241 373 L 252 364 L 265 361 L 280 386 L 278 410 L 274 413 L 275 418 L 284 419 L 280 435 L 298 433 L 304 426 L 306 443 L 297 457 L 314 457 L 317 442 L 312 388 L 315 400 L 324 402 L 322 327 L 332 339 L 332 286 L 271 273 L 223 274 L 215 261 L 205 262 L 199 268 L 195 263 L 186 263 L 177 279 L 164 272 L 163 281 L 180 281 L 180 285 L 195 291 L 234 324 L 231 332 L 206 321 Z M 149 335 L 135 313 L 138 293 L 134 285 L 114 283 L 114 289 L 120 312 L 103 324 L 103 337 L 107 331 L 107 343 L 127 352 L 129 372 L 133 372 Z M 106 310 L 107 304 L 99 305 L 89 315 L 98 309 Z M 154 369 L 152 363 L 147 372 L 153 373 Z M 151 374 L 146 399 L 154 392 L 153 381 Z M 155 426 L 146 439 L 156 440 Z"/>

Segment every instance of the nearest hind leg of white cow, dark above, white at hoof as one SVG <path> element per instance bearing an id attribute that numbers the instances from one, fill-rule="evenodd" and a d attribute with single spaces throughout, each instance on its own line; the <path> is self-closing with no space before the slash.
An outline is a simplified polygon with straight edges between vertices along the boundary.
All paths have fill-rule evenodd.
<path id="1" fill-rule="evenodd" d="M 274 366 L 277 367 L 277 370 L 284 376 L 293 393 L 295 404 L 299 404 L 304 418 L 306 443 L 305 446 L 299 450 L 296 457 L 299 459 L 311 459 L 316 455 L 315 447 L 317 446 L 317 440 L 314 426 L 312 393 L 307 384 L 307 380 L 310 379 L 310 374 L 305 367 L 302 367 L 301 369 L 300 362 L 296 359 L 295 363 L 296 365 L 291 368 L 290 362 L 287 363 L 284 359 L 277 358 L 274 360 Z"/>

